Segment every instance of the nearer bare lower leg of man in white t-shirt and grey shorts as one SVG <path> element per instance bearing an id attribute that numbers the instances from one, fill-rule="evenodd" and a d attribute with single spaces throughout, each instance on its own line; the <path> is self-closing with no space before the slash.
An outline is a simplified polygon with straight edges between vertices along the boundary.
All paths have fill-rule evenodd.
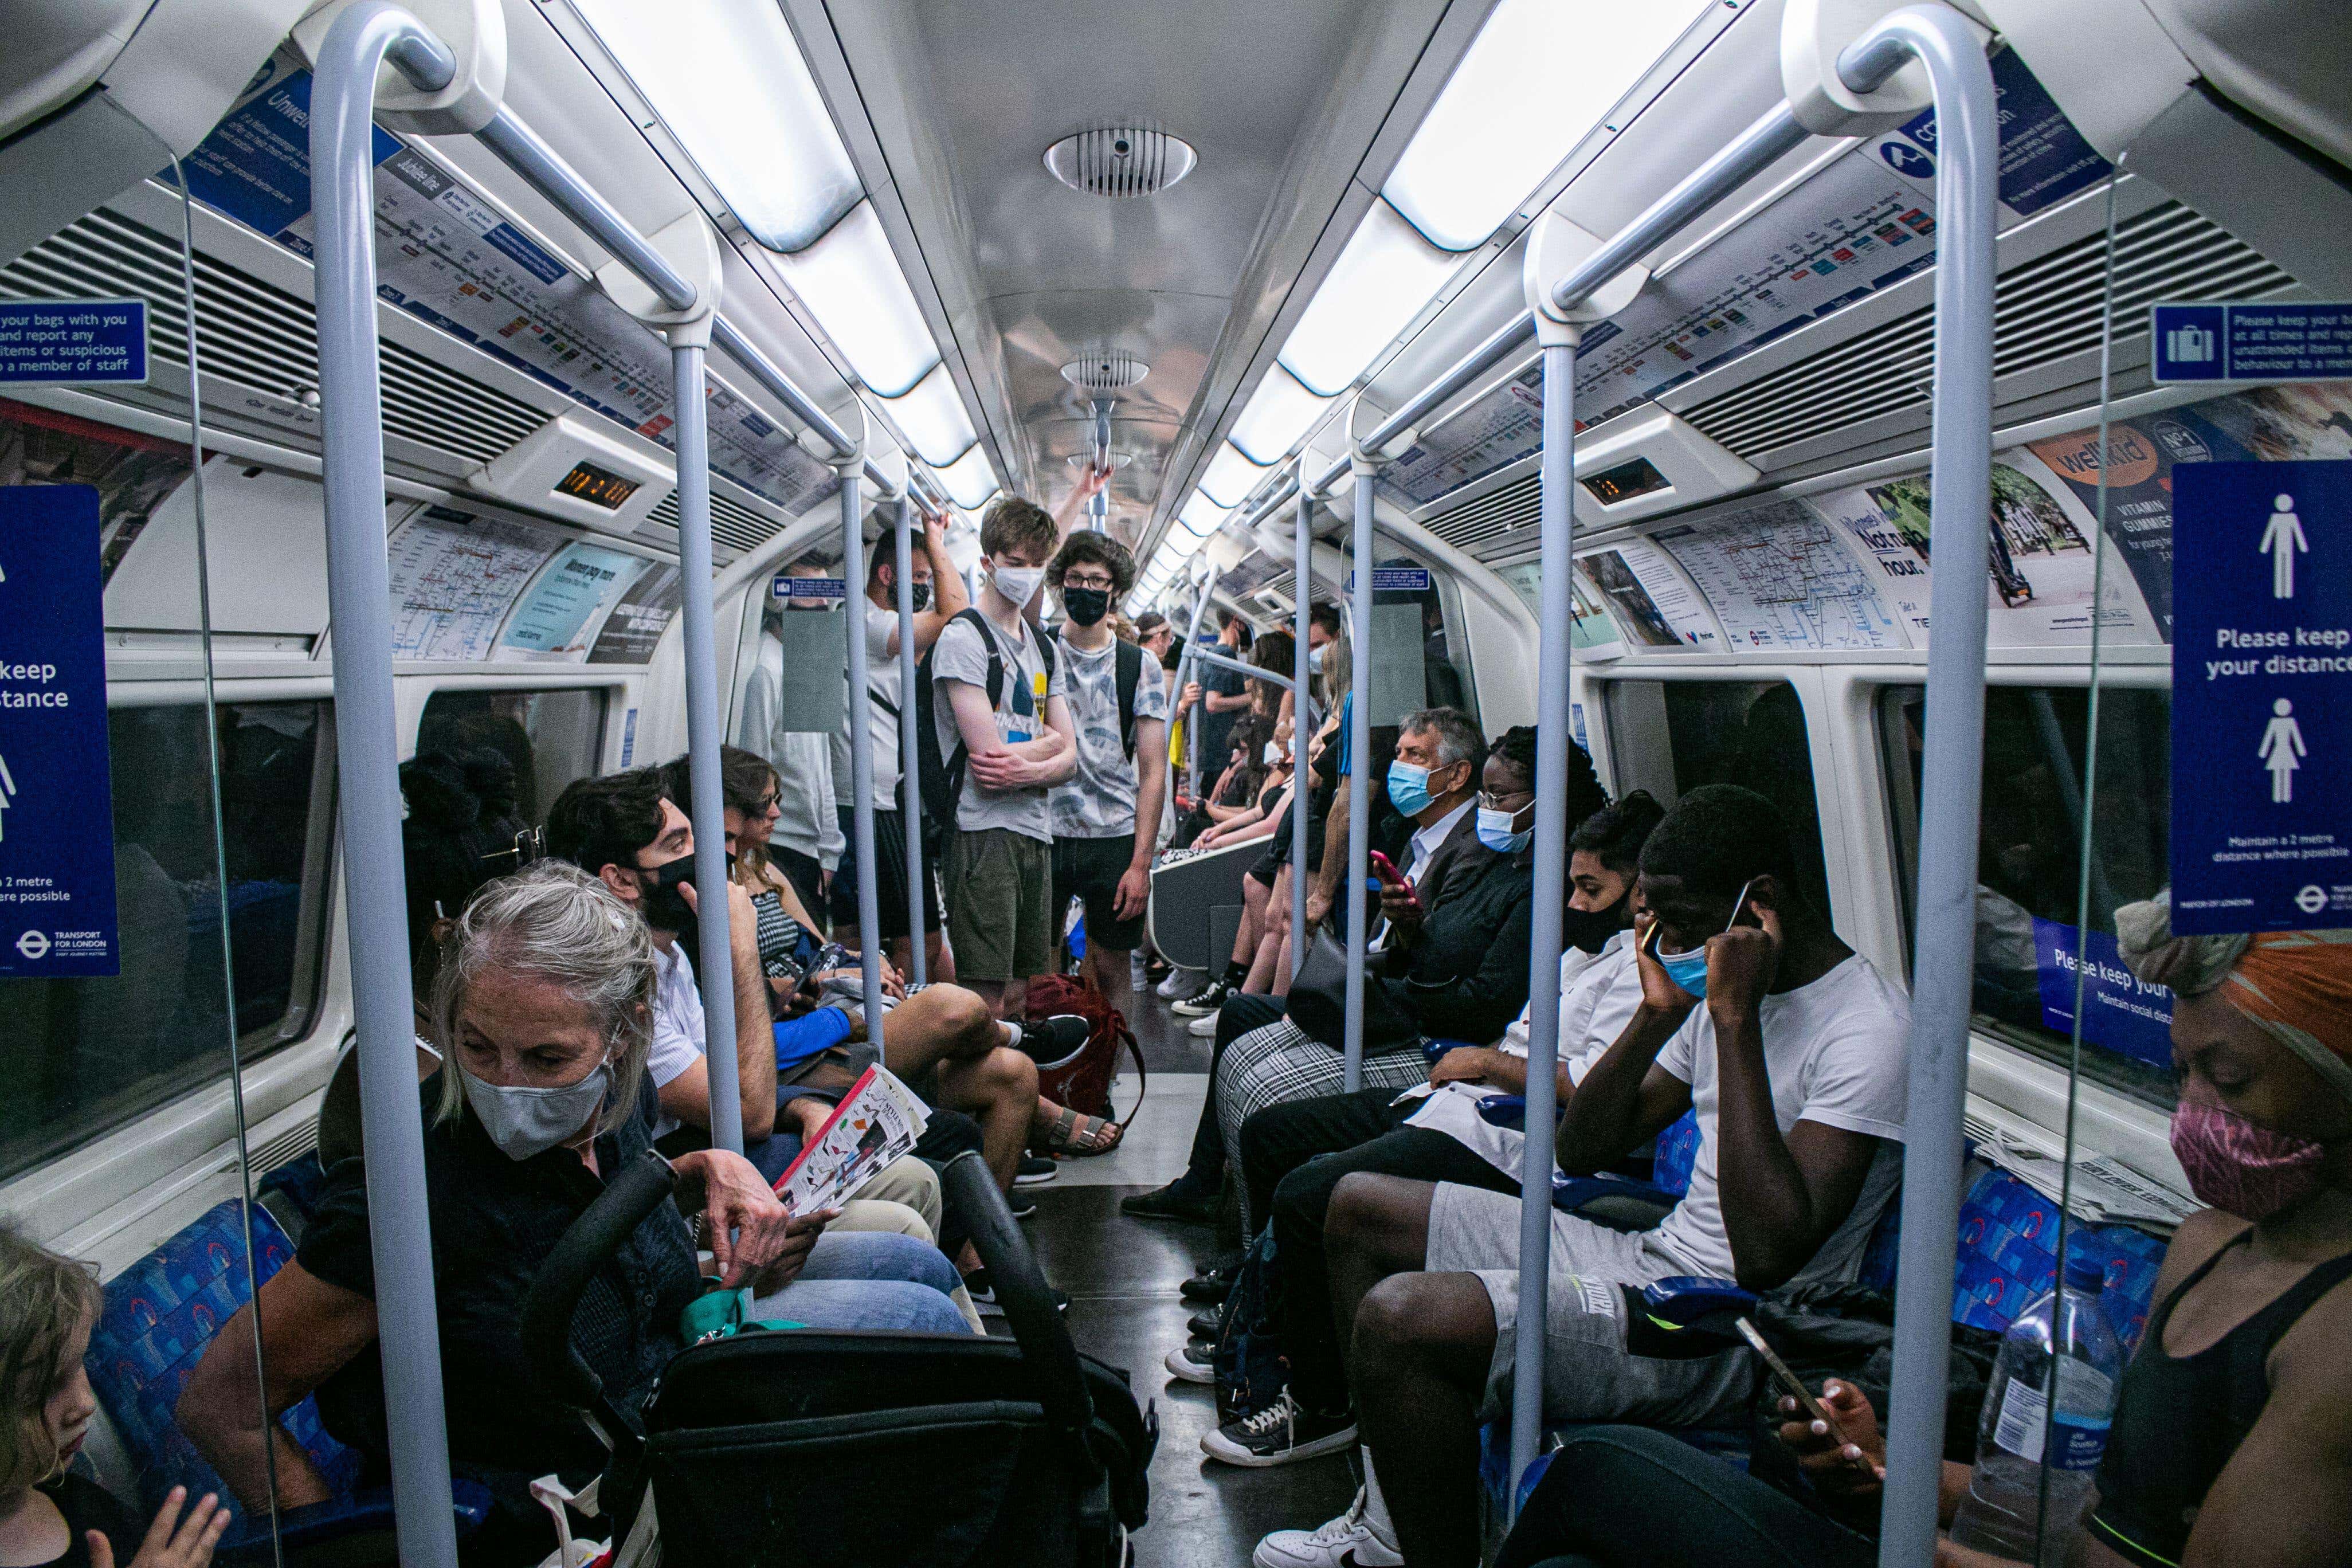
<path id="1" fill-rule="evenodd" d="M 1477 1568 L 1477 1413 L 1494 1340 L 1477 1274 L 1390 1274 L 1355 1312 L 1357 1432 L 1411 1568 Z"/>

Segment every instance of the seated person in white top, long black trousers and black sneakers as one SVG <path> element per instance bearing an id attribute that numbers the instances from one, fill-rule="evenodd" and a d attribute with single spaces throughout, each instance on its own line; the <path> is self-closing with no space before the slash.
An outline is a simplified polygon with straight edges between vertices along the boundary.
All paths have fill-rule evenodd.
<path id="1" fill-rule="evenodd" d="M 1494 764 L 1489 764 L 1491 776 Z M 1479 802 L 1491 813 L 1479 825 L 1489 849 L 1529 853 L 1524 825 L 1534 792 L 1496 795 Z M 1632 961 L 1635 856 L 1663 811 L 1644 792 L 1595 811 L 1571 835 L 1571 922 L 1606 931 L 1602 952 L 1569 947 L 1559 954 L 1559 1105 L 1576 1093 L 1585 1067 L 1606 1051 L 1635 1006 L 1642 978 Z M 1526 1093 L 1529 1013 L 1555 1006 L 1531 997 L 1498 1048 L 1456 1046 L 1430 1081 L 1402 1095 L 1388 1088 L 1322 1095 L 1270 1105 L 1242 1124 L 1242 1173 L 1251 1213 L 1270 1215 L 1282 1269 L 1277 1321 L 1282 1354 L 1291 1368 L 1289 1396 L 1296 1410 L 1244 1418 L 1202 1436 L 1202 1450 L 1228 1465 L 1284 1465 L 1334 1453 L 1355 1441 L 1348 1420 L 1348 1380 L 1341 1375 L 1338 1342 L 1331 1338 L 1331 1279 L 1324 1262 L 1324 1215 L 1331 1192 L 1352 1171 L 1404 1175 L 1425 1182 L 1463 1182 L 1491 1192 L 1519 1190 L 1517 1128 L 1494 1126 L 1477 1103 L 1496 1093 Z M 1202 1382 L 1209 1347 L 1169 1354 L 1169 1371 Z"/>

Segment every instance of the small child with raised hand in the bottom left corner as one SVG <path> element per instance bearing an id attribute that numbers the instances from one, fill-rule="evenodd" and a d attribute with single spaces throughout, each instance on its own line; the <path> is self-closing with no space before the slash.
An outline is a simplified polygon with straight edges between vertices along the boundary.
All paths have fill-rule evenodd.
<path id="1" fill-rule="evenodd" d="M 155 1523 L 66 1465 L 99 1401 L 82 1359 L 99 1321 L 99 1276 L 0 1225 L 0 1563 L 26 1568 L 205 1568 L 233 1514 L 205 1493 L 181 1516 L 174 1486 Z"/>

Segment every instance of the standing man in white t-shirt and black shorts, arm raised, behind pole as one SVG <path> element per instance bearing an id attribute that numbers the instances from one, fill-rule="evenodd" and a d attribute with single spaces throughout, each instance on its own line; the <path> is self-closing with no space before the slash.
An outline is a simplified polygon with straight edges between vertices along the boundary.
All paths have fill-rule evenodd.
<path id="1" fill-rule="evenodd" d="M 910 581 L 915 585 L 915 658 L 922 658 L 938 642 L 948 621 L 971 604 L 962 574 L 948 559 L 948 520 L 943 515 L 922 520 L 922 550 L 915 552 Z M 920 811 L 922 797 L 898 788 L 898 715 L 906 712 L 906 696 L 898 691 L 898 559 L 884 538 L 875 541 L 866 567 L 866 686 L 873 698 L 866 736 L 875 752 L 877 931 L 889 943 L 891 964 L 898 966 L 898 973 L 908 973 L 915 945 L 906 931 L 906 818 L 898 813 L 901 809 Z M 842 729 L 833 736 L 833 799 L 842 816 L 842 842 L 849 844 L 856 816 L 856 785 L 849 776 L 849 715 L 842 715 Z M 941 940 L 934 870 L 924 865 L 922 877 L 924 973 L 931 980 L 953 980 L 955 954 Z M 833 872 L 833 929 L 849 933 L 856 931 L 856 924 L 858 858 L 842 853 L 842 865 Z"/>

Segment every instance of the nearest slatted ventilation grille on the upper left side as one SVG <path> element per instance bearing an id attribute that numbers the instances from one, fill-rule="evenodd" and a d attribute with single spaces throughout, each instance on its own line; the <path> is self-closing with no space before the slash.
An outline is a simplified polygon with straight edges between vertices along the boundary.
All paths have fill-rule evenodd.
<path id="1" fill-rule="evenodd" d="M 0 294 L 16 299 L 146 299 L 148 348 L 186 364 L 179 242 L 111 212 L 92 212 L 0 268 Z M 310 301 L 198 254 L 195 336 L 205 374 L 292 402 L 318 395 L 318 317 Z M 487 463 L 548 416 L 520 397 L 383 343 L 383 428 L 435 451 Z"/>

